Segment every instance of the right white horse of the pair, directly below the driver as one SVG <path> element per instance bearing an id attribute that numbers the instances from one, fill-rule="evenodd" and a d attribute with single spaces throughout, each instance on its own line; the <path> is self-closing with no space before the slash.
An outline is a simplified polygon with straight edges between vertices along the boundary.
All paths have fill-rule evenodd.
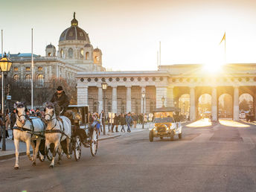
<path id="1" fill-rule="evenodd" d="M 71 121 L 65 116 L 60 116 L 60 118 L 62 121 L 57 119 L 54 103 L 47 103 L 45 108 L 45 121 L 47 122 L 45 131 L 45 153 L 48 152 L 47 150 L 50 150 L 50 144 L 54 144 L 54 151 L 52 153 L 50 167 L 54 167 L 54 158 L 57 150 L 59 150 L 59 153 L 62 153 L 60 141 L 66 140 L 67 158 L 71 159 L 71 156 L 69 155 L 69 145 L 71 142 Z"/>

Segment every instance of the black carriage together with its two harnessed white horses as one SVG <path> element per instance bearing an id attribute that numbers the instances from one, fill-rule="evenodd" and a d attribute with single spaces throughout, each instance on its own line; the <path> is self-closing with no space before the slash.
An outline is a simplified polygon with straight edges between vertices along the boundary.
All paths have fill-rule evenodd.
<path id="1" fill-rule="evenodd" d="M 74 159 L 79 161 L 81 156 L 82 144 L 90 147 L 92 156 L 97 153 L 98 135 L 95 127 L 89 126 L 89 106 L 71 105 L 64 116 L 57 116 L 54 103 L 48 103 L 45 108 L 45 118 L 26 117 L 25 106 L 17 106 L 17 120 L 14 143 L 16 151 L 19 150 L 19 140 L 24 141 L 26 136 L 27 155 L 29 154 L 30 144 L 33 147 L 33 164 L 36 164 L 36 157 L 40 161 L 45 160 L 45 156 L 51 161 L 50 167 L 54 167 L 54 157 L 59 155 L 59 161 L 66 154 L 68 159 L 74 154 Z M 46 122 L 45 125 L 42 122 Z M 35 124 L 37 122 L 37 124 Z M 37 155 L 36 155 L 37 154 Z M 19 153 L 16 155 L 15 168 L 19 168 Z"/>

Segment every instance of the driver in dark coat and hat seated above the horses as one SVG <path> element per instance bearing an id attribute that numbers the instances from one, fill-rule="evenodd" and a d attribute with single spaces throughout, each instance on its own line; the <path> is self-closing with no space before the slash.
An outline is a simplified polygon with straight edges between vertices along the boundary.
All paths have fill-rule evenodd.
<path id="1" fill-rule="evenodd" d="M 63 115 L 68 107 L 69 100 L 68 96 L 65 95 L 65 92 L 63 91 L 63 86 L 58 86 L 57 87 L 57 92 L 54 93 L 54 95 L 51 98 L 51 103 L 57 102 L 63 110 L 60 115 Z"/>

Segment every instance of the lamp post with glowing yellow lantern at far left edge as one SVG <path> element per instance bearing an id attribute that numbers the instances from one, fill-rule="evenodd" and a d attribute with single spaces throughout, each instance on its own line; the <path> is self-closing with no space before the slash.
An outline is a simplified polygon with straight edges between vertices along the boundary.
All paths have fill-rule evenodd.
<path id="1" fill-rule="evenodd" d="M 4 83 L 5 83 L 5 79 L 7 77 L 7 72 L 10 71 L 10 67 L 11 67 L 12 64 L 13 64 L 13 62 L 9 58 L 7 58 L 6 53 L 4 53 L 4 57 L 2 57 L 1 60 L 0 60 L 1 74 L 4 74 Z M 1 77 L 1 78 L 3 78 L 3 77 Z M 2 93 L 4 93 L 4 91 L 5 91 L 4 90 L 5 89 L 4 83 L 2 83 L 2 85 L 1 85 L 1 92 Z M 2 144 L 1 150 L 6 150 L 6 145 L 5 145 L 6 130 L 5 130 L 5 112 L 4 112 L 5 93 L 2 94 L 2 95 L 3 95 L 3 97 L 1 99 L 1 113 L 3 115 L 4 126 L 2 127 L 2 130 L 3 130 L 3 144 Z"/>

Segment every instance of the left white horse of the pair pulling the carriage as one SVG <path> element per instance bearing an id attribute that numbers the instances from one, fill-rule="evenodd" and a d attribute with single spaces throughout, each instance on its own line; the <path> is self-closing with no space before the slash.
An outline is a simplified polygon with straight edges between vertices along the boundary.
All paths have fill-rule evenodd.
<path id="1" fill-rule="evenodd" d="M 23 103 L 17 103 L 16 110 L 16 124 L 13 127 L 13 139 L 16 150 L 14 169 L 19 169 L 19 141 L 24 141 L 26 143 L 27 156 L 33 162 L 33 165 L 36 165 L 36 156 L 45 126 L 40 118 L 26 117 L 25 105 Z M 36 146 L 33 141 L 36 141 Z M 33 147 L 32 158 L 30 153 L 31 146 Z"/>

